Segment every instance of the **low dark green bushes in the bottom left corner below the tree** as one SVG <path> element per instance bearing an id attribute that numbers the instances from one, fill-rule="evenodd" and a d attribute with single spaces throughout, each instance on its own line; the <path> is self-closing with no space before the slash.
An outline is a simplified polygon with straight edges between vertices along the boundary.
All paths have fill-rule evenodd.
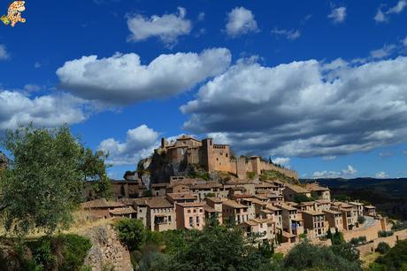
<path id="1" fill-rule="evenodd" d="M 7 258 L 2 259 L 0 253 L 0 270 L 84 270 L 92 246 L 87 238 L 77 235 L 42 236 L 16 244 Z"/>

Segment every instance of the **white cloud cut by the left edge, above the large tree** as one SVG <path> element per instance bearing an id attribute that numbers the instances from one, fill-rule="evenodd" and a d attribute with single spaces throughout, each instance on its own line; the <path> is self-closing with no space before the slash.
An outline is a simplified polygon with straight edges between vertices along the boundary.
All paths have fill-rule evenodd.
<path id="1" fill-rule="evenodd" d="M 85 102 L 69 94 L 28 97 L 17 91 L 0 90 L 0 131 L 33 122 L 55 127 L 86 120 Z"/>

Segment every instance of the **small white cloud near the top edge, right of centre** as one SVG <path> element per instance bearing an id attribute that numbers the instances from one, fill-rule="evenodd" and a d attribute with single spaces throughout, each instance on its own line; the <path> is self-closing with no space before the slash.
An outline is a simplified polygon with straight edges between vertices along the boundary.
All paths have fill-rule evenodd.
<path id="1" fill-rule="evenodd" d="M 238 36 L 257 32 L 257 21 L 253 13 L 243 7 L 235 7 L 227 14 L 227 35 Z"/>

